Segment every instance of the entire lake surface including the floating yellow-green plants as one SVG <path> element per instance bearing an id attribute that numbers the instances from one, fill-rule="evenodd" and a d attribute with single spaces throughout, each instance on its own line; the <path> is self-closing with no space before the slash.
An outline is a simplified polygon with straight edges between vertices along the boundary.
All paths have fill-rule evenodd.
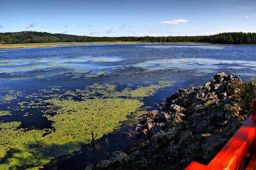
<path id="1" fill-rule="evenodd" d="M 124 151 L 141 115 L 219 72 L 256 75 L 255 45 L 117 43 L 0 50 L 0 169 L 83 170 Z M 125 138 L 126 132 L 132 138 Z"/>

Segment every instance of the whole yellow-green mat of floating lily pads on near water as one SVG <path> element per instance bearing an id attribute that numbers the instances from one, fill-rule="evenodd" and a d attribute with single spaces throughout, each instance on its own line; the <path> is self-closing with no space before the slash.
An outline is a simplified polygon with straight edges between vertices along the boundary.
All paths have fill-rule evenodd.
<path id="1" fill-rule="evenodd" d="M 123 121 L 130 120 L 128 117 L 145 114 L 141 111 L 146 110 L 143 98 L 172 83 L 158 82 L 134 90 L 131 85 L 118 90 L 118 85 L 111 84 L 94 84 L 74 91 L 46 86 L 30 94 L 4 90 L 0 105 L 13 101 L 17 104 L 0 110 L 0 116 L 13 117 L 11 122 L 0 122 L 0 169 L 38 170 L 52 159 L 79 152 L 79 143 L 91 142 L 91 132 L 100 138 L 119 129 Z M 17 114 L 12 111 L 24 119 L 39 115 L 50 121 L 51 127 L 39 129 L 32 124 L 21 128 L 22 121 L 15 121 Z"/>

